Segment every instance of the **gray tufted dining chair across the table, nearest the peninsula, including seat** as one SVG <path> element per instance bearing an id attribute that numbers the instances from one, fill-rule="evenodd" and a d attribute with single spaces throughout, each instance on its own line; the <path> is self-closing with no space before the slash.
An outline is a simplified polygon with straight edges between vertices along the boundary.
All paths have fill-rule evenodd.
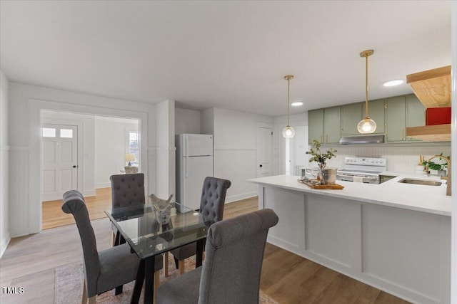
<path id="1" fill-rule="evenodd" d="M 222 221 L 226 193 L 230 186 L 231 182 L 228 179 L 219 179 L 217 177 L 206 177 L 204 179 L 199 211 L 205 220 Z M 197 246 L 196 243 L 190 243 L 170 252 L 173 254 L 175 261 L 178 261 L 176 267 L 179 269 L 179 274 L 182 275 L 184 273 L 184 260 L 196 254 Z M 164 273 L 165 276 L 169 276 L 168 253 L 164 254 L 164 259 Z"/>

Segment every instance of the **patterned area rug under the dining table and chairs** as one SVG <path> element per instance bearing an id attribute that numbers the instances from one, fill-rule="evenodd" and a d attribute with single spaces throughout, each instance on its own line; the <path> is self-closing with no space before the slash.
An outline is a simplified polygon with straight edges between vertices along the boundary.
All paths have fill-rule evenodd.
<path id="1" fill-rule="evenodd" d="M 186 272 L 195 268 L 195 257 L 187 258 L 185 263 Z M 59 268 L 56 268 L 56 283 L 55 283 L 55 300 L 56 304 L 79 304 L 81 303 L 83 293 L 83 263 L 69 263 Z M 178 271 L 174 266 L 173 256 L 169 255 L 169 276 L 164 277 L 163 271 L 160 272 L 160 283 L 164 283 L 179 276 Z M 109 290 L 97 297 L 97 303 L 113 303 L 122 304 L 130 303 L 131 293 L 134 290 L 134 282 L 124 285 L 124 291 L 120 295 L 114 295 L 114 290 Z M 140 303 L 143 303 L 143 295 L 141 295 Z M 278 304 L 268 295 L 260 290 L 261 304 Z"/>

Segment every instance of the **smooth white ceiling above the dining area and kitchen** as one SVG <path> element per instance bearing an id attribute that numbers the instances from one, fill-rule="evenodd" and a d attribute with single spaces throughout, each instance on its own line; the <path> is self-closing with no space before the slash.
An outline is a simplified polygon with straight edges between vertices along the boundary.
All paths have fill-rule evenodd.
<path id="1" fill-rule="evenodd" d="M 4 1 L 11 81 L 179 108 L 286 115 L 411 93 L 451 64 L 451 1 Z"/>

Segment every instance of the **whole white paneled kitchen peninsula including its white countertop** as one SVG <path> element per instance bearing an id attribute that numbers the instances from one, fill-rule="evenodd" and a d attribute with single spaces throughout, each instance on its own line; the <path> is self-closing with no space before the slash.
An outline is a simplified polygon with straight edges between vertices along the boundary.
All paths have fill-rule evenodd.
<path id="1" fill-rule="evenodd" d="M 441 186 L 399 183 L 431 179 Z M 279 216 L 268 242 L 413 303 L 450 303 L 451 196 L 438 177 L 401 174 L 382 184 L 338 181 L 311 189 L 298 177 L 249 179 L 259 209 Z"/>

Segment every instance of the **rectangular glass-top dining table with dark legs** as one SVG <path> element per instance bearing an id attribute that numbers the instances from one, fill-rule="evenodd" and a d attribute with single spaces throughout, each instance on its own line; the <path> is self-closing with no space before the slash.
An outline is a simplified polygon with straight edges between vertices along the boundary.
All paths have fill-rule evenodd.
<path id="1" fill-rule="evenodd" d="M 129 243 L 131 252 L 140 258 L 131 303 L 139 302 L 143 283 L 144 303 L 153 303 L 154 265 L 156 258 L 162 258 L 161 253 L 196 242 L 196 267 L 201 266 L 206 232 L 213 224 L 199 211 L 185 206 L 172 209 L 180 211 L 172 212 L 167 224 L 159 224 L 153 208 L 151 204 L 144 204 L 105 211 L 121 239 Z"/>

